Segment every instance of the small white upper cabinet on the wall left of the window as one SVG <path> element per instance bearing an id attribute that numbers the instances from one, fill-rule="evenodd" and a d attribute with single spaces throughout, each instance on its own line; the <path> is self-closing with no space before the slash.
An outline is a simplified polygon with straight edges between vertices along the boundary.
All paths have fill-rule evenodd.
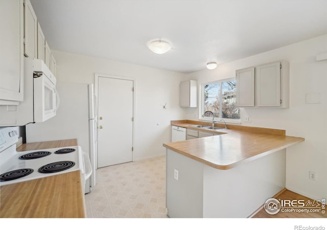
<path id="1" fill-rule="evenodd" d="M 197 88 L 198 83 L 195 80 L 183 81 L 179 83 L 179 106 L 197 107 Z"/>

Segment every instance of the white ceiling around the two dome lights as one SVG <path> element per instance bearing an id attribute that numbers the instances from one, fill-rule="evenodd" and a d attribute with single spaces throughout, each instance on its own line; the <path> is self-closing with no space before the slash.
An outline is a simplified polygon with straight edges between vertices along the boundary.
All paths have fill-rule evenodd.
<path id="1" fill-rule="evenodd" d="M 190 73 L 327 34 L 325 0 L 31 0 L 52 50 Z M 168 39 L 172 50 L 146 46 Z"/>

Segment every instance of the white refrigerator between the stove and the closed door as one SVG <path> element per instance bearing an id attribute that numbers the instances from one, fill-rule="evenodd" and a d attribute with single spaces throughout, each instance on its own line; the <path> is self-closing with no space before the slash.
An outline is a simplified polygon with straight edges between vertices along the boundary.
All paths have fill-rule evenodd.
<path id="1" fill-rule="evenodd" d="M 93 84 L 57 82 L 60 105 L 55 117 L 26 125 L 26 141 L 43 142 L 77 139 L 88 154 L 92 174 L 86 180 L 85 193 L 96 186 L 97 120 Z"/>

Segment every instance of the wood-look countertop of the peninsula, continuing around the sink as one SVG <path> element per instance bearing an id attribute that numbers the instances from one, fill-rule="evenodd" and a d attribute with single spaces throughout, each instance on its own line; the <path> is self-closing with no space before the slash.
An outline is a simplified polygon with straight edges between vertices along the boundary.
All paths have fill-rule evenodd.
<path id="1" fill-rule="evenodd" d="M 230 169 L 275 151 L 305 141 L 302 137 L 286 136 L 285 130 L 227 125 L 227 129 L 208 130 L 190 127 L 210 125 L 200 121 L 172 121 L 172 125 L 221 135 L 164 144 L 164 147 L 216 169 Z M 224 127 L 223 124 L 215 124 Z"/>

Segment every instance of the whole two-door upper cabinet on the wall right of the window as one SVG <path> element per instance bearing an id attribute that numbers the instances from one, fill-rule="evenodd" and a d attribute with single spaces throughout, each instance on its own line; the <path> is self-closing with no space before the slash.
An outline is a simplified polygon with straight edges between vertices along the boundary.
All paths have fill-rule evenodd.
<path id="1" fill-rule="evenodd" d="M 236 71 L 238 107 L 289 107 L 289 63 L 277 61 Z"/>

